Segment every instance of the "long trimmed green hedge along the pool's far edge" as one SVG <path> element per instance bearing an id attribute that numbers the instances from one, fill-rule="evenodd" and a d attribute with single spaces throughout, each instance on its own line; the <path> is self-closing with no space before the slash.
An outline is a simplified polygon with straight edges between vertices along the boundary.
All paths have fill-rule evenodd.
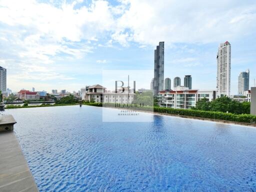
<path id="1" fill-rule="evenodd" d="M 86 103 L 91 106 L 102 106 L 102 103 Z M 115 107 L 114 103 L 104 103 L 103 106 Z M 127 108 L 124 106 L 124 108 Z M 134 108 L 134 107 L 133 107 Z M 183 115 L 183 116 L 194 116 L 202 118 L 211 118 L 218 120 L 228 120 L 235 122 L 246 122 L 246 123 L 256 123 L 256 115 L 251 114 L 233 114 L 225 112 L 216 112 L 216 111 L 205 111 L 205 110 L 192 110 L 192 109 L 178 109 L 178 108 L 166 108 L 159 106 L 144 106 L 144 107 L 135 107 L 137 110 L 144 111 L 154 111 L 159 113 Z"/>

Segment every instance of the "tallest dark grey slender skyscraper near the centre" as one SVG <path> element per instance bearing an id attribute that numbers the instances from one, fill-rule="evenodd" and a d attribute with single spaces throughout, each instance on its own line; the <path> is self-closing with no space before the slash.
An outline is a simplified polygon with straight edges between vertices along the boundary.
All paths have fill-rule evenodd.
<path id="1" fill-rule="evenodd" d="M 159 42 L 154 50 L 154 94 L 163 90 L 164 76 L 164 42 Z"/>

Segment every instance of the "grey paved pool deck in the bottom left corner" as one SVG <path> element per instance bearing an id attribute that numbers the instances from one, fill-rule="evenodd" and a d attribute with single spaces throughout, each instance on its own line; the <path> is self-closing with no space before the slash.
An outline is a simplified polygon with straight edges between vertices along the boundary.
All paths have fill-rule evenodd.
<path id="1" fill-rule="evenodd" d="M 13 131 L 0 132 L 0 191 L 38 191 Z"/>

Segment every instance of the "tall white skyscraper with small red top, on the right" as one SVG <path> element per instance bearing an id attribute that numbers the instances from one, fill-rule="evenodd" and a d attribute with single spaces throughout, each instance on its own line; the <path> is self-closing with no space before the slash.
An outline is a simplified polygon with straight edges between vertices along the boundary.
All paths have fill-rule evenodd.
<path id="1" fill-rule="evenodd" d="M 217 95 L 230 95 L 231 45 L 220 43 L 217 52 Z"/>

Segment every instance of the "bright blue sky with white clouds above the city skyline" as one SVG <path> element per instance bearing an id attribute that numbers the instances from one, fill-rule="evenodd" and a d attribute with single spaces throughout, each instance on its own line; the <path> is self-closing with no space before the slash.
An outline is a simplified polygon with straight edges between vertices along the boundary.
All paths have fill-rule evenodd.
<path id="1" fill-rule="evenodd" d="M 240 71 L 256 78 L 255 0 L 0 0 L 0 66 L 13 91 L 73 91 L 100 84 L 105 69 L 153 69 L 159 41 L 165 77 L 214 89 L 226 40 L 236 93 Z"/>

